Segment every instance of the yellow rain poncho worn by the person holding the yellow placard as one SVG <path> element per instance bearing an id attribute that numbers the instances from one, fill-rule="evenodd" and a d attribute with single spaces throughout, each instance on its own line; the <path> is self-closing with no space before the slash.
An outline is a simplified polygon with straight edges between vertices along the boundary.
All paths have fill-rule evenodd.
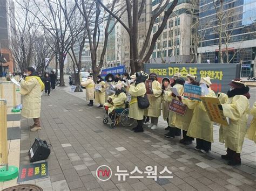
<path id="1" fill-rule="evenodd" d="M 241 153 L 247 129 L 249 101 L 244 95 L 235 95 L 228 98 L 222 107 L 224 116 L 230 119 L 230 125 L 223 125 L 225 147 Z"/>

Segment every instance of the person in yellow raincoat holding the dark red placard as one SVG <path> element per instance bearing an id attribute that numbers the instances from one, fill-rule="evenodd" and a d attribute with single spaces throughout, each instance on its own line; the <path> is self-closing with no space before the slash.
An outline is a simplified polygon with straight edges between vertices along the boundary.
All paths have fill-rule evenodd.
<path id="1" fill-rule="evenodd" d="M 173 82 L 170 84 L 170 86 L 172 88 L 177 89 L 180 96 L 183 94 L 183 85 L 185 83 L 185 80 L 182 79 L 181 77 L 182 77 L 182 75 L 180 73 L 175 73 L 173 75 Z M 166 93 L 165 93 L 165 95 L 166 95 Z M 172 92 L 168 92 L 167 100 L 171 103 L 173 99 L 179 100 L 179 98 L 175 94 L 173 94 Z M 165 137 L 168 137 L 168 138 L 174 138 L 175 136 L 181 136 L 181 130 L 171 124 L 173 114 L 174 114 L 173 111 L 169 111 L 168 121 L 167 121 L 169 127 L 167 129 L 165 129 L 165 130 L 169 130 L 169 132 L 164 135 Z"/>

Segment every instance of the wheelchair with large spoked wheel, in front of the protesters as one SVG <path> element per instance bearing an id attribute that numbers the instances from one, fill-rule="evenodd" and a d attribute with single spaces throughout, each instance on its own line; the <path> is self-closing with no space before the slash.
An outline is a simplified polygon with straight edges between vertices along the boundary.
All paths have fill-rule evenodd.
<path id="1" fill-rule="evenodd" d="M 103 117 L 103 123 L 107 124 L 110 121 L 111 129 L 116 128 L 116 126 L 119 123 L 121 123 L 123 126 L 131 126 L 135 122 L 135 120 L 129 117 L 128 105 L 129 104 L 127 104 L 127 103 L 125 104 L 125 109 L 123 109 L 123 108 L 114 109 L 111 112 L 111 115 L 108 114 L 108 112 L 107 112 L 109 110 L 109 107 L 104 106 L 106 112 Z"/>

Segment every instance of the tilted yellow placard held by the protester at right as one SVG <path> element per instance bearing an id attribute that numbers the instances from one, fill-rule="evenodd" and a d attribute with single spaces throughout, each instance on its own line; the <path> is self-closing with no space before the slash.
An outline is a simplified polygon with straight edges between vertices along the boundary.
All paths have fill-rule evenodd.
<path id="1" fill-rule="evenodd" d="M 208 117 L 212 122 L 228 125 L 227 119 L 226 117 L 224 117 L 223 111 L 220 110 L 218 107 L 218 105 L 220 105 L 219 98 L 203 96 L 201 96 L 200 98 L 204 104 Z"/>

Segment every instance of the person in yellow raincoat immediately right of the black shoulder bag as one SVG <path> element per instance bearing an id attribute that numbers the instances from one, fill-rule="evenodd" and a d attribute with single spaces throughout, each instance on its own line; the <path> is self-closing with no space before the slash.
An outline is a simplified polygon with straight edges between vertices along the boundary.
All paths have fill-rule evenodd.
<path id="1" fill-rule="evenodd" d="M 148 94 L 150 106 L 149 111 L 147 112 L 147 116 L 150 117 L 151 124 L 148 125 L 148 128 L 157 129 L 158 126 L 158 117 L 161 115 L 161 95 L 162 95 L 162 88 L 161 84 L 157 81 L 157 74 L 151 73 L 150 80 L 152 80 L 152 89 L 151 94 Z"/>

